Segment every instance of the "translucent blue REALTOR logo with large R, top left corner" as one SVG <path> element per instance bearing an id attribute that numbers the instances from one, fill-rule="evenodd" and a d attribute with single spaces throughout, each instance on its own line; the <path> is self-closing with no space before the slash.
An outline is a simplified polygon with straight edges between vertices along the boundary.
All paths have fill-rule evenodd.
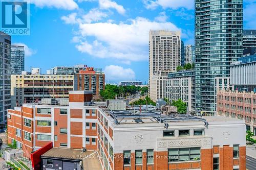
<path id="1" fill-rule="evenodd" d="M 28 1 L 1 1 L 1 31 L 8 35 L 30 35 Z"/>

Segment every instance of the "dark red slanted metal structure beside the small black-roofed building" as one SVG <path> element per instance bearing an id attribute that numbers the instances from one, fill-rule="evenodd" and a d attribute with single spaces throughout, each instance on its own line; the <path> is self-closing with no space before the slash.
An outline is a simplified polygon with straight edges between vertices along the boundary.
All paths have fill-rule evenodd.
<path id="1" fill-rule="evenodd" d="M 44 147 L 35 151 L 30 155 L 33 170 L 41 169 L 41 155 L 53 148 L 52 142 L 49 142 Z"/>

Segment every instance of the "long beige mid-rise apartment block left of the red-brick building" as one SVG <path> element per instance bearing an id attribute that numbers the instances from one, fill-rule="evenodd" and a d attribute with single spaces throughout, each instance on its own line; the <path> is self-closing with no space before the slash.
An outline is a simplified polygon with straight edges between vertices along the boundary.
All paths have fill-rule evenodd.
<path id="1" fill-rule="evenodd" d="M 68 98 L 74 90 L 73 75 L 12 75 L 12 108 L 43 98 Z"/>

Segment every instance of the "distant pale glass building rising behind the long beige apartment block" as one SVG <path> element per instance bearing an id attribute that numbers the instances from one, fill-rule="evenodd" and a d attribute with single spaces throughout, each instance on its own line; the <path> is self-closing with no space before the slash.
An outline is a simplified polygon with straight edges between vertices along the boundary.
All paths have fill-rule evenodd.
<path id="1" fill-rule="evenodd" d="M 51 75 L 75 75 L 79 74 L 80 70 L 85 70 L 87 65 L 75 65 L 73 67 L 68 66 L 56 66 L 51 68 Z"/>

